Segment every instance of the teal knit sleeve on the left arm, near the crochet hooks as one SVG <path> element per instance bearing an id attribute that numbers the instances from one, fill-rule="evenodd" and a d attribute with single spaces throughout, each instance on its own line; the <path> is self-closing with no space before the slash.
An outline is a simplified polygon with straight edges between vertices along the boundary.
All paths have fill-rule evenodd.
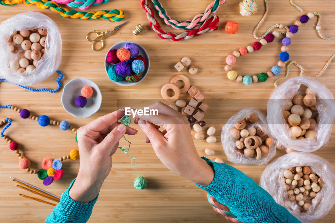
<path id="1" fill-rule="evenodd" d="M 45 220 L 45 223 L 83 223 L 88 221 L 98 196 L 89 203 L 72 200 L 69 196 L 69 191 L 75 180 L 63 192 L 60 202 L 55 206 L 53 212 Z"/>

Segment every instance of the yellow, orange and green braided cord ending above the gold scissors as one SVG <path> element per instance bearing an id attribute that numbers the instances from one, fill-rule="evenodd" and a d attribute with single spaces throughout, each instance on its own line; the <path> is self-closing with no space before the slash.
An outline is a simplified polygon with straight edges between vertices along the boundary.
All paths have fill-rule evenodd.
<path id="1" fill-rule="evenodd" d="M 125 15 L 120 9 L 113 9 L 111 11 L 91 11 L 91 12 L 77 12 L 76 10 L 68 10 L 67 8 L 61 7 L 58 3 L 48 0 L 1 0 L 0 4 L 3 6 L 12 6 L 15 4 L 24 3 L 25 5 L 36 4 L 40 9 L 49 8 L 54 12 L 58 12 L 62 17 L 80 18 L 80 19 L 108 19 L 110 22 L 121 21 Z"/>

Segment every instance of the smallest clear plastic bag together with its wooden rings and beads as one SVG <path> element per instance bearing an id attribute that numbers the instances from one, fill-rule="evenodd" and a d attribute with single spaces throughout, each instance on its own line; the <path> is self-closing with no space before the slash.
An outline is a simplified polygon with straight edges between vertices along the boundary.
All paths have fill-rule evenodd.
<path id="1" fill-rule="evenodd" d="M 221 142 L 232 163 L 264 165 L 276 154 L 275 140 L 269 134 L 266 118 L 254 107 L 240 110 L 226 122 Z"/>

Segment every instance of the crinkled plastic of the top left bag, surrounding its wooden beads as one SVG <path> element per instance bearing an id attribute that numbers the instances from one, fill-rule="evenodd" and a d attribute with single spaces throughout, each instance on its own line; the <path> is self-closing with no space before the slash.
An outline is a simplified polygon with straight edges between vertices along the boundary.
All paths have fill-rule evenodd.
<path id="1" fill-rule="evenodd" d="M 36 69 L 18 73 L 9 68 L 12 60 L 24 58 L 24 50 L 17 45 L 17 53 L 9 51 L 10 35 L 14 31 L 47 28 L 45 54 L 38 61 Z M 14 84 L 30 86 L 50 77 L 59 67 L 62 59 L 62 39 L 57 24 L 40 12 L 23 12 L 1 22 L 0 25 L 0 75 Z"/>

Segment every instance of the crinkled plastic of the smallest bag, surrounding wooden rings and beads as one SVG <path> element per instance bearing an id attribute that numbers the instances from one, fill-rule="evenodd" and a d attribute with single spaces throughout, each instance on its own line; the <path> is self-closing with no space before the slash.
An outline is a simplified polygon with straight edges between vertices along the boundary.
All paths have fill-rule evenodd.
<path id="1" fill-rule="evenodd" d="M 236 151 L 236 140 L 230 136 L 230 130 L 235 128 L 234 124 L 236 122 L 245 119 L 252 113 L 256 113 L 259 119 L 255 123 L 249 123 L 248 127 L 260 127 L 263 132 L 268 135 L 268 137 L 272 138 L 271 135 L 269 135 L 269 131 L 266 125 L 266 118 L 259 109 L 252 107 L 240 110 L 226 122 L 226 124 L 222 127 L 221 131 L 221 142 L 224 153 L 226 154 L 227 159 L 232 163 L 264 165 L 268 163 L 271 158 L 274 157 L 274 155 L 276 155 L 275 143 L 273 143 L 273 145 L 269 148 L 269 154 L 266 157 L 261 157 L 261 159 L 258 160 L 245 156 L 240 152 Z"/>

